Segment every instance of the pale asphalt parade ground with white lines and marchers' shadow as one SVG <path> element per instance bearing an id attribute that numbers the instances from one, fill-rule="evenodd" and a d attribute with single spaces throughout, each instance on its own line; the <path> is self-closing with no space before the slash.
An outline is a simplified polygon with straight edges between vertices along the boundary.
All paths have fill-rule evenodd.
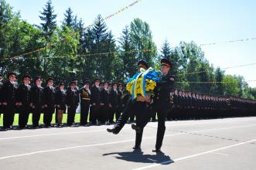
<path id="1" fill-rule="evenodd" d="M 110 126 L 0 131 L 0 169 L 256 169 L 256 117 L 167 121 L 155 154 L 157 122 L 148 123 L 142 151 L 135 131 Z"/>

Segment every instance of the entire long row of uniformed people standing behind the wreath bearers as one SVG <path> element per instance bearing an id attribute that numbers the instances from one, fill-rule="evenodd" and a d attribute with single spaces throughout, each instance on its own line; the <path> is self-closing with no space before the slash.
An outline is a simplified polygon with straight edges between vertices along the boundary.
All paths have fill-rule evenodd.
<path id="1" fill-rule="evenodd" d="M 19 128 L 29 128 L 29 114 L 32 113 L 32 128 L 53 126 L 63 127 L 63 114 L 67 114 L 67 126 L 77 126 L 74 122 L 80 105 L 80 125 L 113 124 L 125 108 L 129 95 L 122 83 L 108 83 L 95 79 L 84 80 L 83 87 L 77 87 L 74 79 L 68 85 L 60 81 L 55 86 L 53 78 L 22 76 L 22 84 L 17 83 L 16 73 L 8 73 L 8 80 L 2 83 L 0 75 L 0 117 L 5 130 L 12 129 L 15 113 L 19 113 Z M 256 115 L 256 100 L 239 97 L 214 97 L 175 89 L 171 92 L 171 108 L 168 120 L 244 117 Z M 39 124 L 43 113 L 43 125 Z M 53 114 L 56 124 L 51 124 Z M 90 116 L 89 116 L 90 115 Z M 87 122 L 88 118 L 89 121 Z M 156 121 L 157 113 L 152 121 Z M 135 114 L 129 121 L 135 121 Z"/>

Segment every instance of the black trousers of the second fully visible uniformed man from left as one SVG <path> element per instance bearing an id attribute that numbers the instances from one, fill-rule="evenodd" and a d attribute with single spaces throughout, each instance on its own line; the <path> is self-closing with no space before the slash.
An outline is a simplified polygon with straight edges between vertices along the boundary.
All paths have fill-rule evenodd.
<path id="1" fill-rule="evenodd" d="M 31 107 L 29 106 L 29 104 L 22 104 L 22 106 L 20 107 L 19 128 L 25 128 L 26 124 L 28 124 L 30 108 Z"/>

